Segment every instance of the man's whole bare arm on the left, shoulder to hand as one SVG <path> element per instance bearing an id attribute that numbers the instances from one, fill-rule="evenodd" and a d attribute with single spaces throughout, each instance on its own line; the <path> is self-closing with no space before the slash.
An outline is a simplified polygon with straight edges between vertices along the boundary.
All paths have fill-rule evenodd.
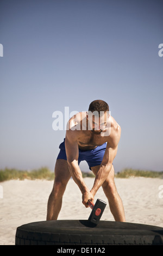
<path id="1" fill-rule="evenodd" d="M 78 165 L 79 148 L 76 133 L 77 131 L 71 130 L 66 132 L 65 148 L 67 163 L 73 180 L 76 182 L 80 191 L 82 192 L 83 204 L 88 207 L 87 201 L 93 200 L 93 197 L 83 180 L 82 172 Z"/>

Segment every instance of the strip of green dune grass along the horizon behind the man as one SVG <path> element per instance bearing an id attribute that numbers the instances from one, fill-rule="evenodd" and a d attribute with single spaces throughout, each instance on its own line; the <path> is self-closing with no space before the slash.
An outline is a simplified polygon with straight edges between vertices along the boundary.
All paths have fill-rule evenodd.
<path id="1" fill-rule="evenodd" d="M 82 172 L 83 178 L 95 177 L 92 172 Z M 163 172 L 154 172 L 151 170 L 134 170 L 124 169 L 122 172 L 115 174 L 116 178 L 130 178 L 130 177 L 146 177 L 146 178 L 160 178 L 163 179 Z M 8 169 L 0 170 L 0 182 L 5 180 L 24 180 L 24 179 L 45 179 L 54 180 L 54 172 L 51 172 L 47 167 L 42 167 L 37 170 L 17 170 Z"/>

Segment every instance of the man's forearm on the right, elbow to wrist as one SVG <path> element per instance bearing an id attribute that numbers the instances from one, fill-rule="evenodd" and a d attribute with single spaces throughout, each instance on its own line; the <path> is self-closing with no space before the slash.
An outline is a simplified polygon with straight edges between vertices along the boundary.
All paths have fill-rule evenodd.
<path id="1" fill-rule="evenodd" d="M 93 187 L 91 189 L 91 193 L 92 194 L 96 194 L 96 192 L 98 191 L 99 187 L 101 187 L 104 183 L 104 181 L 106 180 L 106 178 L 108 177 L 110 170 L 111 170 L 112 164 L 105 164 L 105 165 L 101 165 L 101 167 L 99 168 L 96 177 L 95 177 L 95 182 L 93 184 Z"/>

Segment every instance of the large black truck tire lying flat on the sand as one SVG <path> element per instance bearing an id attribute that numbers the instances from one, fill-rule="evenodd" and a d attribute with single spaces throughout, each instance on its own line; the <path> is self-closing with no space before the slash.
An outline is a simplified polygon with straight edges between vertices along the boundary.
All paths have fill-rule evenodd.
<path id="1" fill-rule="evenodd" d="M 114 221 L 41 221 L 18 227 L 15 245 L 163 245 L 163 228 Z"/>

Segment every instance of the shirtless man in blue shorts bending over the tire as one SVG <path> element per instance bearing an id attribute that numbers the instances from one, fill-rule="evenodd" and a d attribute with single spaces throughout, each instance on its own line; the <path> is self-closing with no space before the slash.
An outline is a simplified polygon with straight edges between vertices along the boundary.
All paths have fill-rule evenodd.
<path id="1" fill-rule="evenodd" d="M 109 106 L 102 100 L 91 102 L 89 112 L 80 112 L 68 121 L 66 137 L 60 144 L 60 153 L 55 164 L 55 180 L 48 199 L 47 220 L 57 220 L 62 196 L 72 176 L 82 192 L 82 203 L 86 208 L 89 207 L 88 200 L 93 202 L 96 192 L 102 186 L 115 221 L 125 222 L 112 165 L 120 137 L 121 127 L 109 115 Z M 87 188 L 79 168 L 82 160 L 89 164 L 95 174 L 91 191 Z"/>

